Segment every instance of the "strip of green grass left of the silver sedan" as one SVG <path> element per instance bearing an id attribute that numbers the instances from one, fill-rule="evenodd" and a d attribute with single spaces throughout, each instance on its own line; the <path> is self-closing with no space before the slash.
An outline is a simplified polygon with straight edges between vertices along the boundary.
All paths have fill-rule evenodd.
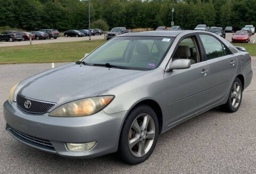
<path id="1" fill-rule="evenodd" d="M 74 62 L 105 40 L 0 47 L 0 64 Z"/>

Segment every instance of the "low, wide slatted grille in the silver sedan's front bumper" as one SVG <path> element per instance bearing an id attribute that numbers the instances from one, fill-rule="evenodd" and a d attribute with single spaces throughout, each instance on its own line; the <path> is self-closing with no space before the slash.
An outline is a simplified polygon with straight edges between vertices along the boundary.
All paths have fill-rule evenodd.
<path id="1" fill-rule="evenodd" d="M 39 148 L 43 148 L 48 151 L 55 151 L 52 143 L 49 140 L 41 139 L 41 138 L 36 138 L 27 134 L 24 134 L 16 129 L 13 129 L 9 125 L 7 125 L 6 128 L 15 138 L 20 140 L 23 143 L 30 144 L 32 146 L 36 146 Z"/>

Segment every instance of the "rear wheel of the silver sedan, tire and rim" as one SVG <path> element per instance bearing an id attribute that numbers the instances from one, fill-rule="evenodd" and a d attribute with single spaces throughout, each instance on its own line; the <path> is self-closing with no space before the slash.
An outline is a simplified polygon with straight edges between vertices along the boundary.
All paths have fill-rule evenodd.
<path id="1" fill-rule="evenodd" d="M 236 86 L 236 88 L 235 88 Z M 239 86 L 239 89 L 238 89 Z M 236 92 L 236 93 L 235 93 Z M 242 96 L 243 96 L 243 86 L 242 82 L 239 78 L 235 78 L 232 87 L 229 92 L 228 101 L 226 104 L 222 105 L 223 110 L 226 112 L 236 112 L 242 102 Z M 235 100 L 235 102 L 234 102 Z M 239 101 L 237 101 L 239 100 Z M 234 104 L 233 104 L 234 102 Z"/>

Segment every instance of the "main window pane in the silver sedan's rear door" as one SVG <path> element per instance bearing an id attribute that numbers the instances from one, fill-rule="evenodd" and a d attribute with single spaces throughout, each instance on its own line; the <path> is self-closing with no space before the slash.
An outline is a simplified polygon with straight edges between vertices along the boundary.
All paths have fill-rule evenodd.
<path id="1" fill-rule="evenodd" d="M 225 55 L 222 44 L 219 42 L 218 39 L 210 35 L 199 35 L 199 36 L 202 40 L 208 60 Z"/>

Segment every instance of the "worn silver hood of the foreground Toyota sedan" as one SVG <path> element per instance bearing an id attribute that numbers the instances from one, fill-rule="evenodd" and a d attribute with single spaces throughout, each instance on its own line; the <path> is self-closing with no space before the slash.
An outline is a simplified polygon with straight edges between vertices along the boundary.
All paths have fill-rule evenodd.
<path id="1" fill-rule="evenodd" d="M 61 104 L 97 96 L 146 72 L 72 63 L 25 79 L 17 90 L 24 97 Z"/>

